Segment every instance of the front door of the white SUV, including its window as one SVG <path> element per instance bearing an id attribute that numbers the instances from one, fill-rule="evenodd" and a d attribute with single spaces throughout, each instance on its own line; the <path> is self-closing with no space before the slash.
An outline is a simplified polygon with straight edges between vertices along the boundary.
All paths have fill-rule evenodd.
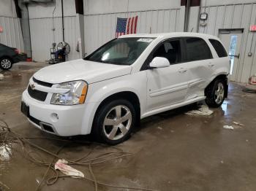
<path id="1" fill-rule="evenodd" d="M 151 59 L 167 58 L 170 66 L 146 71 L 147 111 L 184 101 L 187 95 L 188 76 L 187 63 L 181 63 L 181 40 L 169 39 L 162 42 L 150 56 Z"/>

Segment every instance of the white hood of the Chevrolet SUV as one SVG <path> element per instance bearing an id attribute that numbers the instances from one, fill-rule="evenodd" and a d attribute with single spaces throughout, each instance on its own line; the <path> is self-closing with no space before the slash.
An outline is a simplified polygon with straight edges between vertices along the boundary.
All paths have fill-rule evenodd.
<path id="1" fill-rule="evenodd" d="M 83 79 L 89 84 L 131 74 L 132 66 L 119 66 L 78 59 L 40 69 L 34 78 L 52 84 Z"/>

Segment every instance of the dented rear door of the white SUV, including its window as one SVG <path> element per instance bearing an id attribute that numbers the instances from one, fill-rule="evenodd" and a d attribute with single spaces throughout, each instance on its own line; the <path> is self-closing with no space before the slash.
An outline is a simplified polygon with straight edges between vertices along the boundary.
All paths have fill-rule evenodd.
<path id="1" fill-rule="evenodd" d="M 184 39 L 188 69 L 187 100 L 204 95 L 208 79 L 214 74 L 215 61 L 204 39 L 189 37 Z"/>

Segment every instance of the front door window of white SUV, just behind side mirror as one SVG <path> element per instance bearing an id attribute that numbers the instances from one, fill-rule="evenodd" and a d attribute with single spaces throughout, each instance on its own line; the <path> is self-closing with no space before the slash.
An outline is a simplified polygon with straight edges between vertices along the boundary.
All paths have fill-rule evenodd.
<path id="1" fill-rule="evenodd" d="M 180 40 L 171 40 L 164 42 L 154 52 L 153 58 L 167 58 L 170 64 L 181 62 L 181 44 Z"/>

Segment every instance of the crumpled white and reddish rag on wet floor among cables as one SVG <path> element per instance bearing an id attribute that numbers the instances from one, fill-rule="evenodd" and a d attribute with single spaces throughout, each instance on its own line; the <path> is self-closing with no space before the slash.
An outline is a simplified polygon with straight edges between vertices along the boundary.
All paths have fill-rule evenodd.
<path id="1" fill-rule="evenodd" d="M 82 177 L 84 178 L 84 174 L 81 171 L 72 168 L 71 166 L 67 165 L 67 160 L 59 159 L 54 168 L 59 169 L 62 173 L 67 174 L 69 176 L 74 176 L 74 178 Z"/>

